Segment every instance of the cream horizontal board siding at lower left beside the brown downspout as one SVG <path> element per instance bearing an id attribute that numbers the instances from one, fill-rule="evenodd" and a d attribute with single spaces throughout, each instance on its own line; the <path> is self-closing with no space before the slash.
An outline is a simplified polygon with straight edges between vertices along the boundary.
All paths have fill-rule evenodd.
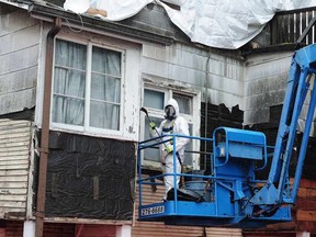
<path id="1" fill-rule="evenodd" d="M 0 218 L 25 218 L 31 122 L 0 120 Z"/>

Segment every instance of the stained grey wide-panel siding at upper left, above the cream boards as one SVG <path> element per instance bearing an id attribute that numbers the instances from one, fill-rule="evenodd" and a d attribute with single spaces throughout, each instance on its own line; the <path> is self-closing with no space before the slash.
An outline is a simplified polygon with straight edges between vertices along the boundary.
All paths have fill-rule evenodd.
<path id="1" fill-rule="evenodd" d="M 0 8 L 0 114 L 8 114 L 35 106 L 40 24 L 26 11 Z"/>

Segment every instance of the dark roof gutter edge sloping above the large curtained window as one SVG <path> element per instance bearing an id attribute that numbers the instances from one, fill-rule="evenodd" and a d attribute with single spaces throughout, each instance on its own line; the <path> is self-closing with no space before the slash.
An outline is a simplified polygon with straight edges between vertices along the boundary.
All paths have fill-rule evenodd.
<path id="1" fill-rule="evenodd" d="M 32 3 L 29 8 L 29 12 L 34 18 L 46 19 L 47 21 L 54 21 L 55 18 L 67 20 L 67 23 L 74 25 L 84 25 L 86 29 L 93 29 L 97 31 L 103 31 L 110 34 L 117 34 L 128 38 L 136 38 L 139 41 L 151 42 L 160 45 L 171 45 L 174 42 L 172 35 L 168 32 L 153 32 L 145 31 L 133 25 L 122 24 L 120 22 L 113 22 L 100 19 L 98 16 L 80 14 L 66 11 L 63 8 L 56 8 L 55 5 Z"/>

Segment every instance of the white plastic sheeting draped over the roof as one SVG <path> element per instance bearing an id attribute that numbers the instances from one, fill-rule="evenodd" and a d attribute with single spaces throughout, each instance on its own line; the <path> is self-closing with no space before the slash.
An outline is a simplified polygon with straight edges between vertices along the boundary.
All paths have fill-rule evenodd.
<path id="1" fill-rule="evenodd" d="M 159 0 L 66 0 L 64 8 L 77 13 L 89 7 L 105 10 L 104 19 L 120 21 L 151 2 L 162 5 L 192 42 L 229 49 L 251 41 L 278 11 L 316 7 L 316 0 L 172 0 L 181 7 L 178 11 Z"/>

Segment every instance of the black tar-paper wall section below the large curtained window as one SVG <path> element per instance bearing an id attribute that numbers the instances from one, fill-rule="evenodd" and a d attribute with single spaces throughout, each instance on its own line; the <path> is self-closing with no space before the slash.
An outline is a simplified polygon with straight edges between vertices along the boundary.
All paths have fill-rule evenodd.
<path id="1" fill-rule="evenodd" d="M 50 132 L 45 216 L 131 224 L 135 147 L 127 140 Z"/>

